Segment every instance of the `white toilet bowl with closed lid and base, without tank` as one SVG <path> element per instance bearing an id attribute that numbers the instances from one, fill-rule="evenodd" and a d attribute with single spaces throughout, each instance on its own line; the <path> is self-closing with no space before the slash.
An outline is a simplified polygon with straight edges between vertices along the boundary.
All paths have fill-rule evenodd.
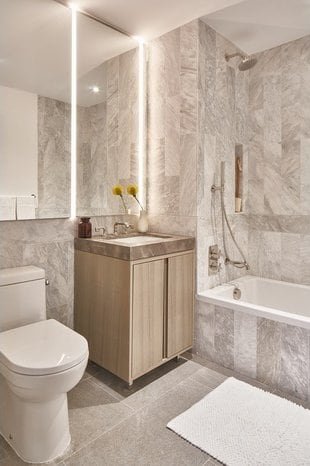
<path id="1" fill-rule="evenodd" d="M 53 319 L 0 334 L 0 432 L 24 461 L 51 461 L 68 447 L 67 392 L 87 360 L 86 340 Z"/>

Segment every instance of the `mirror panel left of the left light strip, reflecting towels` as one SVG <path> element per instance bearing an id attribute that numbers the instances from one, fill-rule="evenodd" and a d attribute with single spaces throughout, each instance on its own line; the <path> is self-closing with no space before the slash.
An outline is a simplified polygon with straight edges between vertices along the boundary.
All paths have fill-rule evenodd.
<path id="1" fill-rule="evenodd" d="M 70 215 L 71 12 L 1 0 L 0 219 Z"/>

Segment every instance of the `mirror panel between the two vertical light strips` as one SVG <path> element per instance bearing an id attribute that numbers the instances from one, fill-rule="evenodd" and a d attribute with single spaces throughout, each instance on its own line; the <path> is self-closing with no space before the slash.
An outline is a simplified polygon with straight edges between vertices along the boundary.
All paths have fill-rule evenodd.
<path id="1" fill-rule="evenodd" d="M 77 31 L 77 215 L 124 213 L 112 187 L 138 183 L 138 44 L 83 14 Z"/>

